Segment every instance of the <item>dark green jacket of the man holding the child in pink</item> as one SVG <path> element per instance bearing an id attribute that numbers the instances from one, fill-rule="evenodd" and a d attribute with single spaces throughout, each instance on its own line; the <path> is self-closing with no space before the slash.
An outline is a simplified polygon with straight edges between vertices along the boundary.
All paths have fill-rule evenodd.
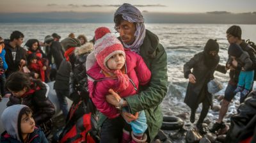
<path id="1" fill-rule="evenodd" d="M 163 122 L 163 112 L 160 103 L 167 92 L 167 61 L 163 45 L 159 43 L 154 33 L 146 30 L 146 36 L 140 47 L 140 56 L 143 57 L 151 72 L 151 80 L 147 87 L 140 87 L 140 93 L 126 97 L 132 113 L 145 110 L 147 116 L 148 133 L 150 140 L 156 137 Z M 100 114 L 99 127 L 107 119 Z"/>

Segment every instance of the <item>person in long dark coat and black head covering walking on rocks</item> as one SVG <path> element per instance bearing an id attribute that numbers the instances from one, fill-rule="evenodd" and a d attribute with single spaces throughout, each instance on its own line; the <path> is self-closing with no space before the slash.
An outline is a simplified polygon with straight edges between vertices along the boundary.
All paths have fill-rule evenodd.
<path id="1" fill-rule="evenodd" d="M 191 109 L 190 121 L 195 122 L 195 112 L 198 105 L 202 103 L 203 108 L 196 123 L 199 132 L 204 134 L 202 123 L 207 116 L 210 106 L 212 106 L 212 94 L 207 90 L 207 83 L 214 79 L 214 71 L 220 70 L 225 73 L 225 66 L 218 63 L 219 45 L 216 40 L 209 39 L 203 52 L 196 54 L 188 63 L 184 64 L 184 77 L 189 79 L 188 88 L 184 102 Z M 191 69 L 193 68 L 193 72 Z"/>

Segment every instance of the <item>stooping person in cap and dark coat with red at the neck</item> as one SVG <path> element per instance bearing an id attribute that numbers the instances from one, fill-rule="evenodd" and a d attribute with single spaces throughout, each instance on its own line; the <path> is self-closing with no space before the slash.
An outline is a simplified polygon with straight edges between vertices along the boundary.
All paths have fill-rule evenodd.
<path id="1" fill-rule="evenodd" d="M 74 69 L 74 62 L 76 61 L 76 56 L 74 55 L 74 50 L 76 47 L 80 47 L 80 41 L 76 38 L 65 38 L 61 41 L 61 45 L 66 50 L 65 59 L 60 64 L 60 68 L 56 75 L 56 82 L 54 82 L 54 89 L 56 91 L 58 101 L 60 103 L 60 108 L 67 117 L 68 115 L 68 103 L 66 97 L 69 96 L 69 79 L 70 72 Z M 71 98 L 70 98 L 71 99 Z M 72 100 L 72 99 L 71 99 Z"/>

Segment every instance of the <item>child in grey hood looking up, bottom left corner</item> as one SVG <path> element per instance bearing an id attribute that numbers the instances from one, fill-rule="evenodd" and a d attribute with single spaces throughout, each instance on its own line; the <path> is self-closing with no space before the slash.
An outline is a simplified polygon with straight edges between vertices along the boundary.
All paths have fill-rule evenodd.
<path id="1" fill-rule="evenodd" d="M 1 116 L 5 132 L 1 135 L 1 142 L 48 142 L 42 130 L 35 126 L 32 110 L 26 105 L 13 105 L 4 109 Z"/>

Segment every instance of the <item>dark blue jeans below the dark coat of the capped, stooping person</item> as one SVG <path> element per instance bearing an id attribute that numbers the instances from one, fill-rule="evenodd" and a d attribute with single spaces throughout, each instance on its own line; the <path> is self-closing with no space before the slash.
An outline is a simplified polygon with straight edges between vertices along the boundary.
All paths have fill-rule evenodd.
<path id="1" fill-rule="evenodd" d="M 59 101 L 60 109 L 62 110 L 65 117 L 68 116 L 68 102 L 66 97 L 69 96 L 68 90 L 55 90 Z"/>

